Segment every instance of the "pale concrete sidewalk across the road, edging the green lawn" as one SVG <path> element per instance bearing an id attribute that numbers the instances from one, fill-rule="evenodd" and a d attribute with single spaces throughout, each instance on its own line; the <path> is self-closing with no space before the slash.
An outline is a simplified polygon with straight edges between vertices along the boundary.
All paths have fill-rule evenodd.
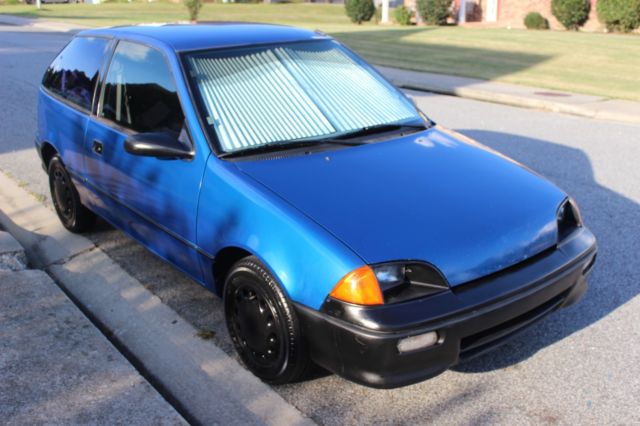
<path id="1" fill-rule="evenodd" d="M 76 24 L 0 14 L 0 24 L 3 23 L 71 33 L 88 28 Z M 396 86 L 405 89 L 422 90 L 601 120 L 640 124 L 640 102 L 606 99 L 599 96 L 383 66 L 377 66 L 376 68 Z"/>

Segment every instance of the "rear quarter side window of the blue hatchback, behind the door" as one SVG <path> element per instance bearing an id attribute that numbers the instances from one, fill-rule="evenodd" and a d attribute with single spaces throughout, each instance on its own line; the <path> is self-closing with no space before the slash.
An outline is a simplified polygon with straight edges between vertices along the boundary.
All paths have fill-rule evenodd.
<path id="1" fill-rule="evenodd" d="M 42 85 L 84 109 L 91 109 L 100 63 L 109 41 L 76 37 L 49 66 Z"/>

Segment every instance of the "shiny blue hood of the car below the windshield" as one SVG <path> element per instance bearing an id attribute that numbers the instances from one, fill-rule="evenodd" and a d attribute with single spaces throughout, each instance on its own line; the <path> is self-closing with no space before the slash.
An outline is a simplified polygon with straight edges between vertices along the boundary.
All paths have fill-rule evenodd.
<path id="1" fill-rule="evenodd" d="M 515 161 L 440 127 L 236 164 L 364 262 L 426 261 L 452 286 L 556 244 L 566 197 Z"/>

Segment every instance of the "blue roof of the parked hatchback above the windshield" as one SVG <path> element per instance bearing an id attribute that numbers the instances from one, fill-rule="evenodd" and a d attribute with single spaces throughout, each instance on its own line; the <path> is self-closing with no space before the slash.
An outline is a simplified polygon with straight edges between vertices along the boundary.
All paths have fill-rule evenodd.
<path id="1" fill-rule="evenodd" d="M 319 31 L 248 22 L 143 24 L 86 30 L 79 33 L 79 35 L 138 40 L 153 39 L 168 45 L 176 51 L 328 38 L 328 36 Z"/>

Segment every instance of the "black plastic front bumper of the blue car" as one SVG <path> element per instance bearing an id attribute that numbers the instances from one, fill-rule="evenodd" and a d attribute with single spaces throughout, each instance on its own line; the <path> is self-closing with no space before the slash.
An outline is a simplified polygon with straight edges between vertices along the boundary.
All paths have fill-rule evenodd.
<path id="1" fill-rule="evenodd" d="M 320 311 L 296 305 L 313 360 L 378 388 L 416 383 L 505 342 L 577 301 L 596 256 L 586 228 L 507 270 L 405 303 L 360 307 L 328 299 Z M 406 337 L 436 331 L 435 345 L 400 353 Z"/>

